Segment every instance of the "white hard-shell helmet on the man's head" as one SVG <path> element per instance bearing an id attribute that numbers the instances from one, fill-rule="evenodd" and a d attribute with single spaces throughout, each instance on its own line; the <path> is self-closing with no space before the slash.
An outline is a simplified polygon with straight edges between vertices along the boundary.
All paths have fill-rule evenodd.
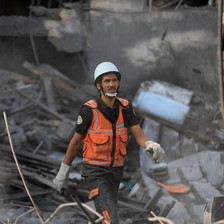
<path id="1" fill-rule="evenodd" d="M 96 79 L 100 75 L 103 75 L 103 74 L 108 73 L 108 72 L 118 73 L 119 74 L 119 79 L 120 79 L 120 73 L 119 73 L 117 67 L 113 63 L 111 63 L 111 62 L 102 62 L 95 69 L 95 72 L 94 72 L 94 80 L 95 80 L 95 82 L 96 82 Z"/>

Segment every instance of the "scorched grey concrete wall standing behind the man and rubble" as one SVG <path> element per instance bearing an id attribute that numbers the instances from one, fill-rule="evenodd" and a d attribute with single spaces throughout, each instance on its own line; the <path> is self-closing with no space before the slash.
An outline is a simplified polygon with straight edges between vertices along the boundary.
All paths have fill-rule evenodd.
<path id="1" fill-rule="evenodd" d="M 95 0 L 32 11 L 0 17 L 3 69 L 21 72 L 23 61 L 36 63 L 38 56 L 75 81 L 91 83 L 96 65 L 112 61 L 122 73 L 122 95 L 132 97 L 151 79 L 218 95 L 216 6 L 162 9 L 145 1 Z"/>

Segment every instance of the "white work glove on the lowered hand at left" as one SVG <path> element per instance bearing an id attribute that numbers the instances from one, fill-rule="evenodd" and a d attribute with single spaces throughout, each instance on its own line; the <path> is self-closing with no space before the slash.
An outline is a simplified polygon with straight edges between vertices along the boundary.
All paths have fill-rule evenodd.
<path id="1" fill-rule="evenodd" d="M 55 190 L 57 190 L 59 193 L 61 193 L 61 189 L 68 182 L 68 175 L 70 170 L 71 166 L 63 162 L 61 163 L 61 167 L 58 171 L 58 174 L 53 180 Z"/>

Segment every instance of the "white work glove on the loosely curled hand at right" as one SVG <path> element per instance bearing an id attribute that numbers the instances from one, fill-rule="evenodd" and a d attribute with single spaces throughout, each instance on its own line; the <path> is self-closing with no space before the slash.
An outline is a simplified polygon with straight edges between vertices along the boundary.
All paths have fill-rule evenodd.
<path id="1" fill-rule="evenodd" d="M 152 155 L 152 159 L 155 162 L 160 163 L 163 160 L 165 152 L 160 144 L 153 141 L 147 141 L 145 142 L 145 146 L 145 151 Z"/>

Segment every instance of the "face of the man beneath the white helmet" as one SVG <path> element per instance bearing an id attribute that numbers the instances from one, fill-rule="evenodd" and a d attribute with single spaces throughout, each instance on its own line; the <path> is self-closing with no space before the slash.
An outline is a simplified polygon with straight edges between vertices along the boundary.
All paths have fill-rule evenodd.
<path id="1" fill-rule="evenodd" d="M 103 75 L 101 85 L 106 93 L 117 93 L 120 81 L 117 79 L 116 73 L 108 73 Z M 97 88 L 100 90 L 100 85 L 97 83 Z"/>

